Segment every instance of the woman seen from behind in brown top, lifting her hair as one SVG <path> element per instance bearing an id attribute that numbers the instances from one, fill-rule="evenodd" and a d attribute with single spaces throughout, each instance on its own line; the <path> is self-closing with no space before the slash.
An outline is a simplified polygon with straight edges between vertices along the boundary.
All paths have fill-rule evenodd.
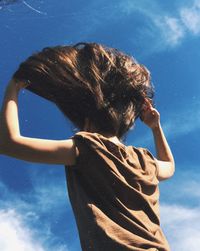
<path id="1" fill-rule="evenodd" d="M 17 104 L 22 88 L 54 102 L 80 131 L 65 140 L 23 137 Z M 7 87 L 0 151 L 65 165 L 84 251 L 169 250 L 160 228 L 158 183 L 175 167 L 152 98 L 144 66 L 96 43 L 45 48 L 20 65 Z M 138 117 L 152 130 L 157 158 L 122 143 Z"/>

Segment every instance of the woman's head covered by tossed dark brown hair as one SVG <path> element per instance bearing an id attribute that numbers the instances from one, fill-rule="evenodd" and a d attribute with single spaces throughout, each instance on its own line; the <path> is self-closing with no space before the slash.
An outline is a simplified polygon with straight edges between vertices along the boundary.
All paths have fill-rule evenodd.
<path id="1" fill-rule="evenodd" d="M 153 98 L 150 73 L 134 58 L 97 43 L 45 48 L 23 62 L 14 78 L 54 102 L 83 130 L 122 137 Z"/>

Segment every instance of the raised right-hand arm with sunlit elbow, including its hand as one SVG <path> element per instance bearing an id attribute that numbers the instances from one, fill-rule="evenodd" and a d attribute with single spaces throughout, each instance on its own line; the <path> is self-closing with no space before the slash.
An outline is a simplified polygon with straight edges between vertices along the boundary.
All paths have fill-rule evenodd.
<path id="1" fill-rule="evenodd" d="M 146 100 L 141 120 L 152 130 L 157 153 L 158 179 L 170 178 L 175 171 L 174 158 L 164 135 L 159 112 Z"/>

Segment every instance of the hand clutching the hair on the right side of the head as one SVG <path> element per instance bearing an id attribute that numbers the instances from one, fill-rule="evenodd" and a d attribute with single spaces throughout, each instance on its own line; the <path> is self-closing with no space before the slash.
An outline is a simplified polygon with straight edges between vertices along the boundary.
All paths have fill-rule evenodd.
<path id="1" fill-rule="evenodd" d="M 140 119 L 151 129 L 155 129 L 160 125 L 160 114 L 153 108 L 148 99 L 145 99 Z"/>

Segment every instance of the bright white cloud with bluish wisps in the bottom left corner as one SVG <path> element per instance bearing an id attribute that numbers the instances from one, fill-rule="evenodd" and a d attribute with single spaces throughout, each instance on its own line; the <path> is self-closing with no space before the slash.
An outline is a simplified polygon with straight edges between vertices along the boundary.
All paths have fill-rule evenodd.
<path id="1" fill-rule="evenodd" d="M 40 166 L 42 168 L 45 167 Z M 23 194 L 15 193 L 0 182 L 0 250 L 68 250 L 63 236 L 52 231 L 68 210 L 65 183 L 55 174 L 33 171 L 33 189 Z M 14 244 L 15 248 L 11 248 Z"/>

